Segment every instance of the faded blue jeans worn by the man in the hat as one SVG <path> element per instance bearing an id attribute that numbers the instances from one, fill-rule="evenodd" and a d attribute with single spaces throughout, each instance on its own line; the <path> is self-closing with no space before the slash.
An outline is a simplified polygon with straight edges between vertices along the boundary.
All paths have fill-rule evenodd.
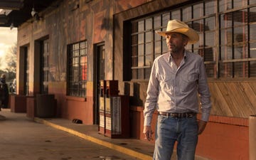
<path id="1" fill-rule="evenodd" d="M 198 142 L 198 123 L 196 116 L 174 118 L 159 115 L 156 124 L 154 160 L 170 160 L 177 141 L 178 160 L 195 159 Z"/>

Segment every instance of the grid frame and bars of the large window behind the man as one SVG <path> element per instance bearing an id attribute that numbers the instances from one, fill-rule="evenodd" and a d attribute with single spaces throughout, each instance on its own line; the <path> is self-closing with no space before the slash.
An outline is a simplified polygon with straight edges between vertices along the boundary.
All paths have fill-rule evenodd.
<path id="1" fill-rule="evenodd" d="M 231 4 L 233 4 L 233 1 L 234 0 L 229 0 L 231 1 Z M 212 3 L 212 4 L 210 4 Z M 169 9 L 168 11 L 161 11 L 161 13 L 157 13 L 157 14 L 152 14 L 150 16 L 146 16 L 146 17 L 142 17 L 142 18 L 137 18 L 137 19 L 132 19 L 130 20 L 130 23 L 131 23 L 131 27 L 130 27 L 130 41 L 131 41 L 131 45 L 130 45 L 130 51 L 131 51 L 131 54 L 130 54 L 130 58 L 131 58 L 131 66 L 130 66 L 130 70 L 131 70 L 131 80 L 132 81 L 144 81 L 144 80 L 149 80 L 149 75 L 150 75 L 150 72 L 149 72 L 149 75 L 143 75 L 145 74 L 146 72 L 144 71 L 139 73 L 139 71 L 136 71 L 136 70 L 145 70 L 145 69 L 148 69 L 150 68 L 151 70 L 151 64 L 154 62 L 154 59 L 158 56 L 156 55 L 156 43 L 160 43 L 160 55 L 163 54 L 163 53 L 166 53 L 166 52 L 163 52 L 163 44 L 165 44 L 165 38 L 164 37 L 160 37 L 160 38 L 155 38 L 155 31 L 165 31 L 166 30 L 166 23 L 163 23 L 163 18 L 162 18 L 162 15 L 164 14 L 169 14 L 169 19 L 172 18 L 172 14 L 173 13 L 176 13 L 174 14 L 174 18 L 177 18 L 179 17 L 179 19 L 181 21 L 183 17 L 186 17 L 186 15 L 184 16 L 183 15 L 183 9 L 186 9 L 186 11 L 191 11 L 191 18 L 188 18 L 186 19 L 186 21 L 184 21 L 185 23 L 188 24 L 188 26 L 190 26 L 191 28 L 194 28 L 195 29 L 195 26 L 193 26 L 196 21 L 203 21 L 203 29 L 202 31 L 198 32 L 199 34 L 201 34 L 201 39 L 202 39 L 202 42 L 203 42 L 203 46 L 198 46 L 198 44 L 195 44 L 195 45 L 188 45 L 186 46 L 186 49 L 187 50 L 190 50 L 192 51 L 193 53 L 199 53 L 199 50 L 204 50 L 204 53 L 207 53 L 206 50 L 209 50 L 210 48 L 212 49 L 212 54 L 213 54 L 213 58 L 206 58 L 204 57 L 204 63 L 206 65 L 206 73 L 208 74 L 208 79 L 210 80 L 244 80 L 245 78 L 246 79 L 253 79 L 253 78 L 256 78 L 256 75 L 255 73 L 250 73 L 250 64 L 251 63 L 256 63 L 256 58 L 255 57 L 252 57 L 250 58 L 250 39 L 247 39 L 247 41 L 242 41 L 241 43 L 232 43 L 232 47 L 234 48 L 236 45 L 244 45 L 243 43 L 247 43 L 247 55 L 248 57 L 247 58 L 233 58 L 231 60 L 222 60 L 221 59 L 221 50 L 220 50 L 220 47 L 221 47 L 221 27 L 220 27 L 220 15 L 222 14 L 226 14 L 228 12 L 230 13 L 235 13 L 235 11 L 243 11 L 243 10 L 247 10 L 247 13 L 249 13 L 248 11 L 250 11 L 250 9 L 252 9 L 253 7 L 256 8 L 256 3 L 255 4 L 249 4 L 250 2 L 247 1 L 247 5 L 243 5 L 242 7 L 240 6 L 239 8 L 233 8 L 233 9 L 229 9 L 229 10 L 226 10 L 226 11 L 221 11 L 219 12 L 219 5 L 220 5 L 220 1 L 199 1 L 199 2 L 195 2 L 195 3 L 191 3 L 191 4 L 188 4 L 188 5 L 185 5 L 185 6 L 181 6 L 179 8 L 175 8 L 173 7 L 172 9 Z M 235 3 L 235 2 L 234 2 Z M 243 4 L 245 3 L 245 1 L 243 1 Z M 212 7 L 210 8 L 211 10 L 210 11 L 206 11 L 206 4 L 208 5 L 208 7 Z M 210 5 L 213 5 L 214 6 L 210 6 Z M 201 7 L 203 6 L 203 14 L 201 15 L 201 17 L 196 17 L 196 18 L 193 18 L 193 6 L 196 6 L 196 7 Z M 191 9 L 189 9 L 191 8 Z M 206 12 L 210 12 L 209 14 L 206 15 Z M 187 13 L 188 14 L 188 13 Z M 178 16 L 177 16 L 178 15 Z M 248 14 L 249 15 L 249 14 Z M 160 16 L 160 23 L 161 25 L 158 27 L 158 28 L 154 28 L 154 17 L 156 16 Z M 151 24 L 151 28 L 146 28 L 145 27 L 145 21 L 147 19 L 151 18 L 151 21 L 152 21 L 152 24 Z M 215 22 L 215 26 L 213 28 L 210 28 L 210 30 L 206 30 L 206 20 L 207 21 L 212 21 L 210 19 L 214 19 L 214 22 Z M 249 19 L 249 18 L 247 18 Z M 137 31 L 133 31 L 134 30 L 134 26 L 133 24 L 136 23 L 136 22 L 139 22 L 139 21 L 144 21 L 144 31 L 140 31 L 139 29 Z M 195 23 L 194 23 L 195 22 Z M 247 26 L 247 38 L 249 38 L 250 36 L 250 25 L 251 24 L 255 24 L 256 26 L 256 21 L 252 22 L 252 23 L 243 23 L 242 26 Z M 139 24 L 137 24 L 139 26 Z M 139 28 L 137 26 L 137 28 Z M 231 28 L 235 28 L 236 26 L 231 26 Z M 240 26 L 238 26 L 240 27 Z M 135 27 L 136 28 L 136 27 Z M 196 30 L 196 29 L 195 29 Z M 145 36 L 144 36 L 144 42 L 139 42 L 139 40 L 137 40 L 137 44 L 134 43 L 134 39 L 136 38 L 133 38 L 132 36 L 135 36 L 135 35 L 139 35 L 140 33 L 146 33 L 147 31 L 151 31 L 151 63 L 150 65 L 145 65 L 145 46 L 144 46 L 144 54 L 142 54 L 142 56 L 144 56 L 144 65 L 139 65 L 139 60 L 137 60 L 137 65 L 136 63 L 134 63 L 134 60 L 132 58 L 138 58 L 139 57 L 139 49 L 137 48 L 137 53 L 134 53 L 134 50 L 132 47 L 134 46 L 139 46 L 140 44 L 145 44 L 146 43 L 146 39 L 145 39 Z M 197 31 L 197 30 L 196 30 Z M 213 42 L 213 46 L 206 46 L 206 35 L 214 35 L 214 42 Z M 139 37 L 139 36 L 138 36 Z M 137 37 L 137 39 L 139 39 Z M 208 40 L 209 41 L 209 40 Z M 256 40 L 255 40 L 256 41 Z M 210 43 L 212 44 L 212 43 Z M 256 42 L 255 42 L 255 46 L 256 46 Z M 125 50 L 124 50 L 125 52 Z M 233 53 L 234 54 L 234 53 Z M 237 63 L 237 65 L 234 65 L 233 68 L 238 68 L 238 70 L 235 70 L 233 69 L 233 74 L 231 77 L 223 77 L 220 75 L 220 66 L 223 65 L 224 63 Z M 240 64 L 238 63 L 242 63 L 242 64 L 245 64 L 247 63 L 248 67 L 247 68 L 243 68 L 243 70 L 245 70 L 244 72 L 247 72 L 247 76 L 246 75 L 242 75 L 241 77 L 235 77 L 235 74 L 241 74 L 239 72 L 241 72 L 239 70 L 239 67 L 240 67 Z M 135 65 L 134 65 L 135 64 Z M 135 71 L 134 71 L 135 70 Z M 134 73 L 133 73 L 134 72 Z M 143 74 L 142 74 L 143 73 Z M 148 72 L 147 72 L 148 73 Z M 143 75 L 144 77 L 140 77 L 138 78 L 138 76 L 134 76 L 134 75 Z"/>

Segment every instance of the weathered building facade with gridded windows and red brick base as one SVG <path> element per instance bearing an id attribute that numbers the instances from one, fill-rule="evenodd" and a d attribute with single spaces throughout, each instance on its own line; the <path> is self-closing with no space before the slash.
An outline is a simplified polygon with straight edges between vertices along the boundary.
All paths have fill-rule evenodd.
<path id="1" fill-rule="evenodd" d="M 196 154 L 249 159 L 247 119 L 256 114 L 255 13 L 256 0 L 53 1 L 18 26 L 16 96 L 26 99 L 31 112 L 37 94 L 52 94 L 57 117 L 99 124 L 100 80 L 118 80 L 119 94 L 129 96 L 130 137 L 144 140 L 151 65 L 167 51 L 155 31 L 176 18 L 200 36 L 186 49 L 204 58 L 212 95 Z"/>

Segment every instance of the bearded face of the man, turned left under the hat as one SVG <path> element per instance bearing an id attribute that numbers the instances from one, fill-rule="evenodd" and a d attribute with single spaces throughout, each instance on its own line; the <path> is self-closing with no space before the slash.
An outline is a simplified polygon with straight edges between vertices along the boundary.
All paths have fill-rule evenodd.
<path id="1" fill-rule="evenodd" d="M 186 46 L 188 38 L 181 33 L 166 33 L 166 44 L 171 53 L 177 53 Z"/>

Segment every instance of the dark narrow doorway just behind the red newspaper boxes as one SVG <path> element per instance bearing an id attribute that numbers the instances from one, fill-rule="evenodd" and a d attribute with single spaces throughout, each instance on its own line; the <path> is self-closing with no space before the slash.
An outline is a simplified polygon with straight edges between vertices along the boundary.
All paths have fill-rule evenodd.
<path id="1" fill-rule="evenodd" d="M 94 46 L 94 124 L 100 124 L 100 80 L 105 80 L 105 43 Z"/>

